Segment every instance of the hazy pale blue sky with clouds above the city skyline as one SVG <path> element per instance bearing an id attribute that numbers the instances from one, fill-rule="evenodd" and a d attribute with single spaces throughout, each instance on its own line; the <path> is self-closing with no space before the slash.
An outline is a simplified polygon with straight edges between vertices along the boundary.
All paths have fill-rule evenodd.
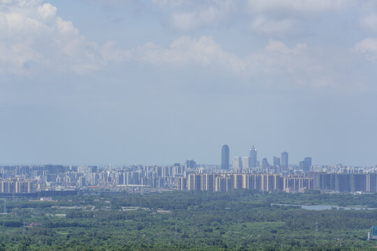
<path id="1" fill-rule="evenodd" d="M 373 0 L 0 0 L 0 164 L 377 165 Z"/>

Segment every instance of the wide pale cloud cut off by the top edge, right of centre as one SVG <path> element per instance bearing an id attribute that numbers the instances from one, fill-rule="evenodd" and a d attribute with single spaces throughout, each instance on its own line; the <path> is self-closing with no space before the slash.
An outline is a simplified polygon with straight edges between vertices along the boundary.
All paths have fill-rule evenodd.
<path id="1" fill-rule="evenodd" d="M 188 31 L 216 25 L 227 17 L 246 17 L 249 28 L 263 33 L 292 31 L 295 23 L 325 11 L 342 10 L 356 0 L 152 0 L 168 24 Z"/>

